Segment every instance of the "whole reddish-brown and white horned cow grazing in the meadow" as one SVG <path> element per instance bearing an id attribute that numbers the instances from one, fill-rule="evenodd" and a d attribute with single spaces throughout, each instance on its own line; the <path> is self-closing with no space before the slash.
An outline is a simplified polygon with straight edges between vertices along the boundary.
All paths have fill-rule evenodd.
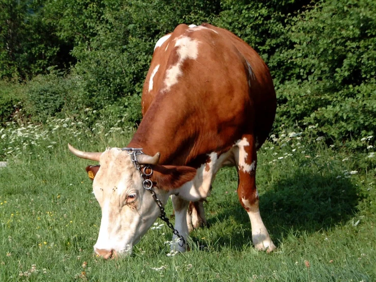
<path id="1" fill-rule="evenodd" d="M 205 220 L 197 201 L 210 195 L 220 167 L 235 165 L 253 244 L 259 250 L 275 249 L 259 213 L 255 182 L 256 151 L 270 132 L 275 111 L 268 67 L 233 33 L 206 23 L 180 24 L 158 40 L 143 86 L 143 119 L 128 147 L 142 148 L 145 155 L 138 161 L 151 164 L 153 189 L 163 205 L 172 195 L 175 228 L 184 238 L 189 236 L 190 201 L 196 202 L 191 213 Z M 104 258 L 131 253 L 160 214 L 131 156 L 119 148 L 103 153 L 69 149 L 100 163 L 88 168 L 102 209 L 95 252 Z M 176 242 L 171 248 L 186 250 Z"/>

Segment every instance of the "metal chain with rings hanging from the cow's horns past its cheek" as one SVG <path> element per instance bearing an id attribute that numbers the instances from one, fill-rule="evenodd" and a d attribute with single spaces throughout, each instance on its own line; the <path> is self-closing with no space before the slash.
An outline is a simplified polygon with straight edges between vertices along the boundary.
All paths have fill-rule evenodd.
<path id="1" fill-rule="evenodd" d="M 122 151 L 127 151 L 128 154 L 131 155 L 132 162 L 136 169 L 139 171 L 141 178 L 143 180 L 142 186 L 144 189 L 148 190 L 152 193 L 152 196 L 154 198 L 154 201 L 157 203 L 159 209 L 161 210 L 161 214 L 159 216 L 160 219 L 162 219 L 164 222 L 167 223 L 167 226 L 172 230 L 172 233 L 179 237 L 179 241 L 182 243 L 179 246 L 183 247 L 186 245 L 186 241 L 183 236 L 181 236 L 175 228 L 173 228 L 172 223 L 166 216 L 166 212 L 164 211 L 164 207 L 162 205 L 162 202 L 157 198 L 157 194 L 154 192 L 153 188 L 153 182 L 150 180 L 151 176 L 153 175 L 153 168 L 150 166 L 150 164 L 140 164 L 137 161 L 137 155 L 144 154 L 142 152 L 141 148 L 122 148 Z M 150 173 L 147 173 L 146 170 L 150 170 Z"/>

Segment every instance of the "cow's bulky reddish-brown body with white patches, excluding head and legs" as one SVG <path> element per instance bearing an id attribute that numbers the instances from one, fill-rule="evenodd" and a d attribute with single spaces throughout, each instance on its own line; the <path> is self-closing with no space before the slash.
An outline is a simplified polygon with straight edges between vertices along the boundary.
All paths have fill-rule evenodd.
<path id="1" fill-rule="evenodd" d="M 157 43 L 135 143 L 148 140 L 151 151 L 165 153 L 162 162 L 176 164 L 225 152 L 244 132 L 254 132 L 261 146 L 275 107 L 270 72 L 249 45 L 209 24 L 181 24 Z"/>

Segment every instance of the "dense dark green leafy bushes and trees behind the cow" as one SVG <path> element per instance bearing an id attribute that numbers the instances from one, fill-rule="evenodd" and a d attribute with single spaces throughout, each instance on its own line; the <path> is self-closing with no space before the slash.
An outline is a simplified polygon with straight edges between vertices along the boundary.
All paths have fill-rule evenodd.
<path id="1" fill-rule="evenodd" d="M 156 41 L 179 23 L 206 21 L 234 32 L 268 64 L 278 98 L 275 129 L 314 127 L 328 145 L 352 149 L 363 148 L 360 139 L 375 134 L 372 0 L 2 0 L 1 5 L 0 76 L 33 78 L 20 86 L 25 95 L 7 96 L 21 102 L 25 119 L 43 122 L 60 115 L 84 117 L 88 124 L 100 118 L 137 124 Z M 9 106 L 13 100 L 0 99 L 2 121 L 19 116 Z"/>

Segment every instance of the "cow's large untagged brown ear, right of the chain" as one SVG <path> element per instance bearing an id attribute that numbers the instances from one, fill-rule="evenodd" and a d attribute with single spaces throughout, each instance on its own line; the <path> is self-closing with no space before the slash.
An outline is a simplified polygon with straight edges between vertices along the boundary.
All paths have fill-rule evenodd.
<path id="1" fill-rule="evenodd" d="M 196 175 L 196 169 L 190 166 L 152 165 L 152 168 L 154 185 L 166 191 L 181 187 Z"/>

